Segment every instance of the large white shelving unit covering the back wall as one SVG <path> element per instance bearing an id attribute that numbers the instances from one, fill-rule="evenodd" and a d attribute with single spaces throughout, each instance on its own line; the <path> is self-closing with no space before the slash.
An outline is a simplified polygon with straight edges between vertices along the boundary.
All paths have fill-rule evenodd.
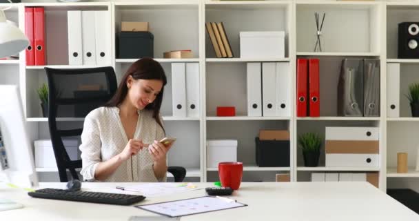
<path id="1" fill-rule="evenodd" d="M 214 181 L 216 168 L 206 166 L 206 140 L 238 140 L 238 161 L 243 162 L 245 181 L 274 180 L 275 173 L 289 173 L 291 180 L 305 181 L 314 171 L 356 171 L 380 173 L 380 189 L 387 189 L 387 177 L 404 182 L 405 178 L 419 177 L 413 170 L 407 174 L 395 173 L 396 153 L 409 153 L 409 166 L 415 166 L 419 138 L 419 119 L 410 115 L 409 104 L 400 96 L 400 117 L 387 117 L 387 63 L 400 63 L 402 77 L 400 94 L 407 84 L 419 81 L 416 70 L 419 59 L 397 58 L 397 24 L 419 21 L 419 3 L 411 1 L 111 1 L 57 3 L 54 0 L 39 3 L 23 0 L 6 11 L 8 19 L 24 30 L 24 7 L 45 7 L 47 66 L 52 68 L 91 68 L 68 65 L 67 16 L 68 10 L 105 10 L 111 17 L 112 63 L 117 79 L 136 59 L 118 57 L 117 35 L 121 21 L 148 21 L 154 35 L 154 57 L 167 75 L 165 97 L 161 107 L 168 135 L 178 137 L 169 155 L 170 165 L 184 166 L 187 177 Z M 1 6 L 10 6 L 3 4 Z M 316 42 L 314 12 L 323 15 L 323 52 L 312 52 Z M 205 22 L 223 21 L 234 58 L 216 58 L 207 37 Z M 345 24 L 345 25 L 342 25 Z M 239 51 L 241 31 L 285 31 L 285 58 L 242 59 Z M 167 50 L 191 49 L 192 59 L 163 59 Z M 320 59 L 320 117 L 296 117 L 296 59 Z M 380 59 L 380 117 L 338 117 L 337 86 L 340 62 L 345 57 Z M 196 62 L 200 65 L 200 117 L 172 117 L 171 64 Z M 291 115 L 282 117 L 248 117 L 246 108 L 247 62 L 286 62 L 291 67 Z M 0 84 L 19 84 L 28 121 L 31 140 L 48 139 L 48 119 L 42 117 L 37 87 L 46 82 L 45 66 L 25 66 L 25 53 L 19 60 L 0 60 Z M 235 106 L 236 117 L 216 117 L 216 106 Z M 82 125 L 83 118 L 61 118 L 60 123 Z M 303 166 L 303 155 L 297 144 L 301 133 L 324 133 L 326 126 L 377 126 L 380 128 L 380 167 L 329 168 Z M 291 154 L 289 167 L 258 167 L 255 162 L 254 137 L 263 128 L 287 129 L 290 132 Z M 323 134 L 324 137 L 324 134 Z M 55 172 L 37 169 L 39 174 Z M 301 177 L 300 177 L 301 176 Z M 300 178 L 299 178 L 300 177 Z M 392 182 L 394 183 L 394 182 Z M 394 184 L 391 184 L 394 186 Z"/>

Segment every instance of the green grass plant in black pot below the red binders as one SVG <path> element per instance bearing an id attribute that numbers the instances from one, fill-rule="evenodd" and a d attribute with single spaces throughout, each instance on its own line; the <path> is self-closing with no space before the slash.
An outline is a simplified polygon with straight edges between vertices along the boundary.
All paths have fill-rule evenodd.
<path id="1" fill-rule="evenodd" d="M 298 136 L 298 144 L 303 151 L 305 166 L 318 166 L 322 140 L 317 133 L 304 133 Z"/>

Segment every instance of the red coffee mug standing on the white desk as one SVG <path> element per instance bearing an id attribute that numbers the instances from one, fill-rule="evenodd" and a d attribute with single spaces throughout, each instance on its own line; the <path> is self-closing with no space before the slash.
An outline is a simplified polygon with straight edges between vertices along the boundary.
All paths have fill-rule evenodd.
<path id="1" fill-rule="evenodd" d="M 222 186 L 229 186 L 236 190 L 240 187 L 241 177 L 243 176 L 243 163 L 220 162 L 218 163 L 218 175 L 220 175 Z"/>

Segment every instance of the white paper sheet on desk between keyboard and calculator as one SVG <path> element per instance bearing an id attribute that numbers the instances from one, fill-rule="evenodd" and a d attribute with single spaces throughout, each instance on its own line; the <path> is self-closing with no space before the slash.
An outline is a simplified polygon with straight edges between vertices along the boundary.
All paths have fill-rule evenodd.
<path id="1" fill-rule="evenodd" d="M 146 184 L 136 184 L 134 186 L 123 186 L 125 189 L 139 191 L 145 197 L 150 198 L 160 195 L 170 195 L 173 193 L 183 193 L 186 191 L 193 191 L 198 189 L 192 183 L 170 183 L 170 182 L 156 182 Z"/>

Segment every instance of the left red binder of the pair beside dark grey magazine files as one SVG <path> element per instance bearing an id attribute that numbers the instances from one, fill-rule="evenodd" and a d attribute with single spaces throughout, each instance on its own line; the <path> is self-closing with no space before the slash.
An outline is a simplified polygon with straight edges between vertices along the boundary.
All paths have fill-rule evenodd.
<path id="1" fill-rule="evenodd" d="M 297 117 L 307 117 L 307 59 L 297 59 Z"/>

